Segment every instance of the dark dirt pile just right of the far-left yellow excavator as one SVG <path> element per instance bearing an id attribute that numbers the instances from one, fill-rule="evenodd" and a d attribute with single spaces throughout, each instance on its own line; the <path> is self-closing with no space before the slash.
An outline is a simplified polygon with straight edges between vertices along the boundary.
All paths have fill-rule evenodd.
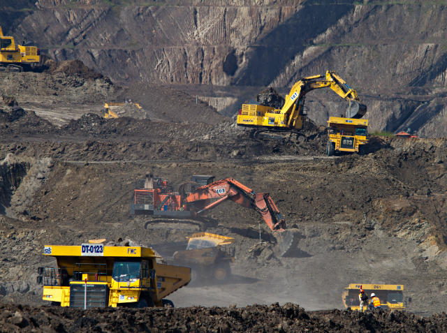
<path id="1" fill-rule="evenodd" d="M 80 60 L 54 61 L 47 59 L 43 64 L 43 73 L 54 75 L 56 73 L 65 73 L 68 76 L 78 76 L 85 80 L 101 79 L 104 76 L 85 66 Z M 108 80 L 108 78 L 107 78 Z"/>

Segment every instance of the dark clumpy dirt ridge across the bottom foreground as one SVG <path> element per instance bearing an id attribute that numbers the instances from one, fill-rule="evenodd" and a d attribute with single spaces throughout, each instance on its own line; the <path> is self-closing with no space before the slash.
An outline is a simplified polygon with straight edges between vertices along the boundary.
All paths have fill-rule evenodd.
<path id="1" fill-rule="evenodd" d="M 45 332 L 445 332 L 446 313 L 422 318 L 412 313 L 376 311 L 305 312 L 278 303 L 244 308 L 193 306 L 182 309 L 81 309 L 3 304 L 4 332 L 40 329 Z"/>

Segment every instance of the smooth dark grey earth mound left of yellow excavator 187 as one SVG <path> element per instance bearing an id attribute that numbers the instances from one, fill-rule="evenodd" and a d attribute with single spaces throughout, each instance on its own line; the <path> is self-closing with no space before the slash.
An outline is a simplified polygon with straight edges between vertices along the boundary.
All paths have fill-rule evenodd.
<path id="1" fill-rule="evenodd" d="M 131 100 L 138 103 L 149 115 L 149 119 L 173 121 L 184 124 L 219 124 L 228 119 L 207 103 L 182 91 L 158 84 L 134 83 L 124 89 L 116 103 Z"/>

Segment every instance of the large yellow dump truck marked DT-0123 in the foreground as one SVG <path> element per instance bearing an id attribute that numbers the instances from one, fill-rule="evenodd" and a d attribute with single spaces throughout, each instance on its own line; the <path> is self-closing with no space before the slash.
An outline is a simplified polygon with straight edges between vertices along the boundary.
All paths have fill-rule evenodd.
<path id="1" fill-rule="evenodd" d="M 173 306 L 164 297 L 191 281 L 189 267 L 159 264 L 146 247 L 45 245 L 43 255 L 57 260 L 38 269 L 43 299 L 61 306 Z"/>

